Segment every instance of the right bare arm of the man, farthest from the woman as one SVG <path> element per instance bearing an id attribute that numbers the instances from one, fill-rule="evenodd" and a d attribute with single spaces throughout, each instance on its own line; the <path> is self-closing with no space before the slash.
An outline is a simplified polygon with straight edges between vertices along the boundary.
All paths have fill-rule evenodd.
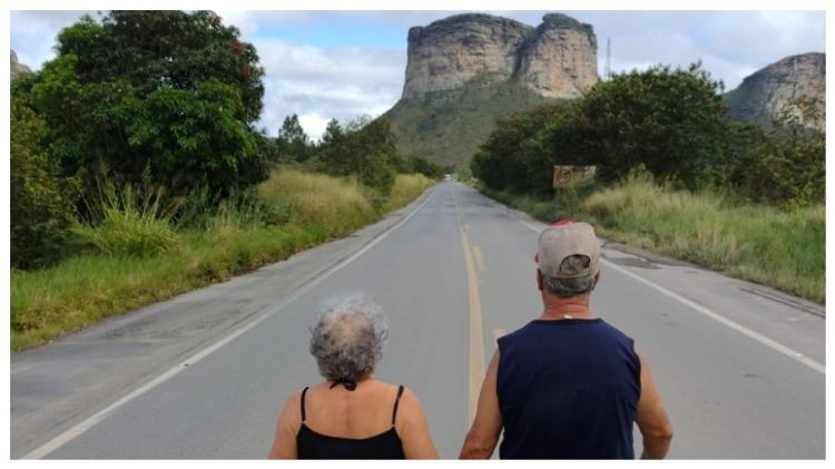
<path id="1" fill-rule="evenodd" d="M 644 436 L 641 459 L 662 459 L 670 449 L 672 426 L 658 395 L 658 389 L 649 372 L 649 364 L 639 351 L 635 351 L 641 362 L 641 397 L 638 400 L 636 422 Z"/>

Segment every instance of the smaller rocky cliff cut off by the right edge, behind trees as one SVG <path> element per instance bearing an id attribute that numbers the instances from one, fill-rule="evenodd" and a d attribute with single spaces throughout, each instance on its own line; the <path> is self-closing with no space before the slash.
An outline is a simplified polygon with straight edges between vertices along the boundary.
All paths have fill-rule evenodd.
<path id="1" fill-rule="evenodd" d="M 743 121 L 770 126 L 785 106 L 797 99 L 817 99 L 824 128 L 826 108 L 826 55 L 790 56 L 746 77 L 741 85 L 725 95 L 728 114 Z M 799 115 L 794 107 L 793 113 Z"/>

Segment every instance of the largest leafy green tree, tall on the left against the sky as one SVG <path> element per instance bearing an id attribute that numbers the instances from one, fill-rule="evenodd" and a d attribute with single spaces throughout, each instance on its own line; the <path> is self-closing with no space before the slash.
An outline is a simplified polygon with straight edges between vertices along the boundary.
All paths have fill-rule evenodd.
<path id="1" fill-rule="evenodd" d="M 63 176 L 223 195 L 266 175 L 255 48 L 213 12 L 112 11 L 58 35 L 58 57 L 18 96 L 45 119 Z M 146 169 L 147 168 L 147 169 Z"/>

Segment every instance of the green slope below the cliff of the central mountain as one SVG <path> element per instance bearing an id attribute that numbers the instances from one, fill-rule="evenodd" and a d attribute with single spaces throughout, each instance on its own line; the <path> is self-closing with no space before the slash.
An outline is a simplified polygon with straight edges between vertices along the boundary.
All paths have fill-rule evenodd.
<path id="1" fill-rule="evenodd" d="M 498 119 L 548 100 L 515 81 L 493 81 L 475 77 L 462 88 L 397 101 L 383 115 L 397 137 L 397 149 L 466 167 Z"/>

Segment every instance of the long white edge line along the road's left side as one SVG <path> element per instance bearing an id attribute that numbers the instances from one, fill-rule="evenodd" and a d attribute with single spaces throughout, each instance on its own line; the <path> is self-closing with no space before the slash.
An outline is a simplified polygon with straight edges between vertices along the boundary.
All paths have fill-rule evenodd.
<path id="1" fill-rule="evenodd" d="M 288 296 L 284 299 L 281 303 L 272 307 L 271 310 L 267 310 L 265 313 L 263 313 L 259 317 L 255 319 L 254 321 L 249 322 L 248 324 L 244 325 L 243 328 L 238 329 L 237 331 L 233 332 L 232 334 L 220 339 L 219 341 L 215 342 L 214 344 L 200 350 L 199 352 L 195 353 L 194 355 L 187 358 L 181 363 L 177 364 L 176 367 L 171 368 L 170 370 L 164 372 L 163 374 L 158 375 L 154 380 L 143 384 L 138 389 L 134 390 L 132 392 L 128 393 L 127 395 L 122 397 L 118 401 L 111 403 L 107 408 L 96 412 L 94 416 L 89 417 L 87 420 L 82 421 L 81 423 L 76 424 L 75 427 L 70 428 L 69 430 L 65 431 L 63 433 L 59 434 L 58 437 L 47 441 L 46 443 L 41 444 L 33 451 L 29 452 L 28 455 L 23 456 L 22 459 L 41 459 L 49 453 L 53 452 L 58 448 L 67 444 L 68 442 L 72 441 L 73 439 L 78 438 L 80 434 L 86 432 L 87 430 L 91 429 L 96 424 L 100 423 L 105 419 L 107 419 L 111 413 L 114 413 L 118 408 L 125 406 L 126 403 L 132 401 L 134 399 L 138 398 L 139 395 L 150 391 L 151 389 L 158 387 L 159 384 L 163 384 L 164 382 L 168 381 L 169 379 L 174 378 L 178 373 L 180 373 L 183 370 L 186 370 L 187 368 L 190 368 L 195 363 L 199 362 L 200 360 L 205 359 L 206 356 L 210 355 L 212 353 L 216 352 L 222 346 L 226 345 L 227 343 L 234 341 L 238 336 L 243 335 L 250 329 L 255 328 L 256 325 L 261 324 L 262 322 L 266 321 L 267 319 L 272 317 L 275 313 L 282 311 L 284 307 L 286 307 L 289 303 L 297 300 L 303 294 L 311 291 L 315 285 L 320 284 L 325 279 L 333 275 L 335 272 L 341 270 L 342 267 L 351 264 L 352 262 L 356 261 L 357 257 L 365 254 L 374 247 L 377 243 L 383 241 L 386 236 L 389 236 L 391 233 L 403 226 L 414 214 L 421 211 L 424 205 L 432 198 L 432 196 L 435 194 L 435 189 L 432 189 L 432 193 L 430 193 L 426 196 L 426 199 L 423 201 L 420 205 L 418 205 L 409 215 L 403 217 L 400 222 L 397 222 L 395 225 L 391 226 L 389 229 L 382 232 L 381 234 L 376 235 L 372 241 L 369 242 L 362 250 L 355 252 L 351 256 L 346 257 L 342 262 L 338 262 L 337 264 L 331 266 L 328 270 L 324 271 L 320 276 L 313 279 L 311 282 L 305 284 L 304 286 L 299 287 L 295 292 L 291 293 Z"/>

